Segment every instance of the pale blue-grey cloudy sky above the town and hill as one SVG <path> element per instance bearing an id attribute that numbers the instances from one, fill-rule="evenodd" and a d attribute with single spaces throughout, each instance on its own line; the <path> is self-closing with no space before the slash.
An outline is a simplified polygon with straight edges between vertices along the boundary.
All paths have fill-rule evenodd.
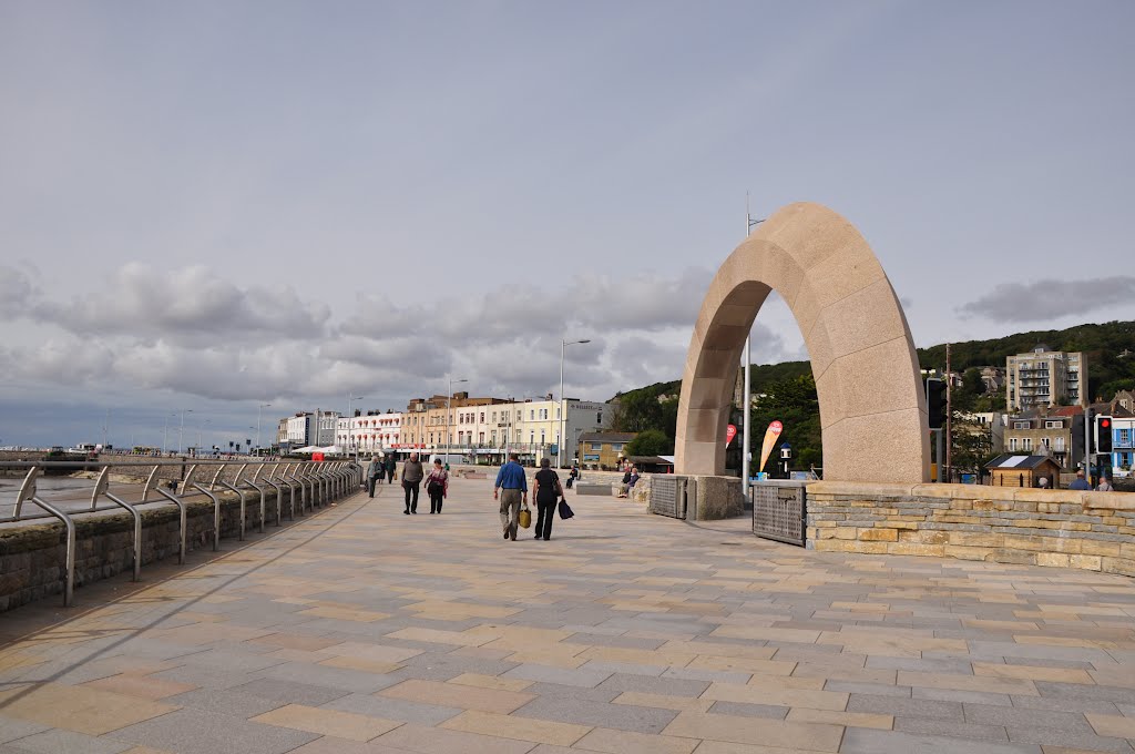
<path id="1" fill-rule="evenodd" d="M 1133 27 L 1126 0 L 0 0 L 0 446 L 558 393 L 563 340 L 590 340 L 570 397 L 676 379 L 746 201 L 848 218 L 918 345 L 1135 319 Z M 753 352 L 807 358 L 775 296 Z"/>

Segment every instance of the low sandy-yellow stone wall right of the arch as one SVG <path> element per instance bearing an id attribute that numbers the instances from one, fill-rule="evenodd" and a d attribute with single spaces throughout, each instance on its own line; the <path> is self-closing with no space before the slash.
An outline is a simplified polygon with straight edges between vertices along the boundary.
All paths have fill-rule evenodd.
<path id="1" fill-rule="evenodd" d="M 1135 576 L 1135 495 L 981 485 L 808 485 L 808 548 Z"/>

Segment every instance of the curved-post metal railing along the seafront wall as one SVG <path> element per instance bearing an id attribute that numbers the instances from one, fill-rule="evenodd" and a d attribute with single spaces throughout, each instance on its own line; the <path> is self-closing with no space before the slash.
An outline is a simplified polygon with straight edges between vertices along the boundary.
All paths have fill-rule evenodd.
<path id="1" fill-rule="evenodd" d="M 215 467 L 211 480 L 203 484 L 204 472 Z M 250 467 L 252 468 L 249 474 Z M 44 471 L 67 469 L 90 470 L 99 474 L 90 491 L 90 504 L 74 501 L 48 500 L 40 494 L 39 481 Z M 75 589 L 75 553 L 77 547 L 76 517 L 125 510 L 134 519 L 132 550 L 134 572 L 137 581 L 142 573 L 142 506 L 159 506 L 173 503 L 178 510 L 177 562 L 185 563 L 187 537 L 187 505 L 192 499 L 208 497 L 213 505 L 212 536 L 213 552 L 220 550 L 221 499 L 218 492 L 236 493 L 239 500 L 239 539 L 244 539 L 246 503 L 250 493 L 259 495 L 259 531 L 264 531 L 267 493 L 269 486 L 276 491 L 276 526 L 283 525 L 284 488 L 288 491 L 289 520 L 296 516 L 296 488 L 300 489 L 300 514 L 304 510 L 314 511 L 330 501 L 356 491 L 362 483 L 362 467 L 351 461 L 304 461 L 304 462 L 249 462 L 162 459 L 159 461 L 2 461 L 0 469 L 27 469 L 10 516 L 0 514 L 0 525 L 35 522 L 57 519 L 66 531 L 64 563 L 64 606 L 70 606 Z M 166 471 L 167 474 L 162 474 Z M 141 484 L 141 499 L 125 500 L 126 493 L 111 492 L 111 474 L 134 477 Z M 201 481 L 199 481 L 199 478 Z M 165 481 L 165 484 L 162 484 Z M 125 483 L 131 484 L 131 483 Z M 180 492 L 178 492 L 178 487 Z M 86 495 L 86 491 L 81 493 Z M 102 503 L 106 499 L 109 503 Z M 2 502 L 2 501 L 0 501 Z M 37 509 L 37 510 L 36 510 Z"/>

